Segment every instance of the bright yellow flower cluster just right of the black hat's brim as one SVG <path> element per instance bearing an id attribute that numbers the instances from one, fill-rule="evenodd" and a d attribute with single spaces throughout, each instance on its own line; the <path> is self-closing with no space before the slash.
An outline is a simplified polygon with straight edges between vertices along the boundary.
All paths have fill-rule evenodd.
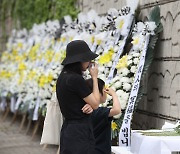
<path id="1" fill-rule="evenodd" d="M 110 62 L 112 60 L 113 54 L 114 54 L 114 50 L 113 48 L 111 48 L 107 53 L 105 53 L 99 58 L 99 64 L 102 65 L 102 64 Z"/>

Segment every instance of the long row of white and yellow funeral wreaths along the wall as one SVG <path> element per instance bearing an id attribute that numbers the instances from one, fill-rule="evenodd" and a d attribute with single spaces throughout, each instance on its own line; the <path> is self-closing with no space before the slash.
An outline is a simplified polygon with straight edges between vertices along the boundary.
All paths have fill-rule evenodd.
<path id="1" fill-rule="evenodd" d="M 8 94 L 22 96 L 20 107 L 25 107 L 27 103 L 32 110 L 40 99 L 39 107 L 44 109 L 55 91 L 66 45 L 77 39 L 85 40 L 99 54 L 96 59 L 99 63 L 99 78 L 106 81 L 113 61 L 126 41 L 119 38 L 129 35 L 136 8 L 137 1 L 127 0 L 127 7 L 121 10 L 110 9 L 107 16 L 99 16 L 91 10 L 80 13 L 75 21 L 70 16 L 65 16 L 64 25 L 60 25 L 57 20 L 49 20 L 39 25 L 34 24 L 29 31 L 13 30 L 7 43 L 7 51 L 1 57 L 1 97 L 7 97 Z M 117 92 L 123 110 L 127 106 L 145 36 L 154 35 L 155 28 L 154 22 L 138 22 L 133 31 L 132 49 L 128 55 L 120 58 L 116 66 L 110 87 Z M 59 29 L 62 31 L 57 35 Z M 84 72 L 84 76 L 90 77 L 87 72 Z M 108 96 L 103 106 L 109 107 L 111 99 Z M 121 114 L 114 118 L 120 116 Z"/>

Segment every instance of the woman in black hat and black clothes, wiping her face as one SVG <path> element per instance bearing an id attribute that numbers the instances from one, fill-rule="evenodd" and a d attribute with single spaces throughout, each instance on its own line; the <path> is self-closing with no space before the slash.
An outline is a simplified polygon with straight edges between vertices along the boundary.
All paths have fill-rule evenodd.
<path id="1" fill-rule="evenodd" d="M 90 115 L 83 113 L 82 108 L 86 103 L 93 109 L 99 105 L 97 64 L 89 67 L 91 60 L 97 56 L 82 40 L 67 45 L 66 58 L 62 62 L 64 68 L 56 84 L 58 102 L 65 118 L 61 129 L 60 154 L 94 153 L 95 140 Z M 82 77 L 82 72 L 88 68 L 93 79 L 93 92 Z"/>

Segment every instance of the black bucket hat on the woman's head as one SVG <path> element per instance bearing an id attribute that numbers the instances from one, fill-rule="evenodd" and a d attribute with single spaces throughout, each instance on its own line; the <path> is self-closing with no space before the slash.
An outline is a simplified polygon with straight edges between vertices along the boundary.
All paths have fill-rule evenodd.
<path id="1" fill-rule="evenodd" d="M 66 47 L 66 58 L 62 65 L 72 64 L 76 62 L 88 62 L 98 57 L 93 53 L 87 43 L 83 40 L 75 40 L 68 43 Z"/>

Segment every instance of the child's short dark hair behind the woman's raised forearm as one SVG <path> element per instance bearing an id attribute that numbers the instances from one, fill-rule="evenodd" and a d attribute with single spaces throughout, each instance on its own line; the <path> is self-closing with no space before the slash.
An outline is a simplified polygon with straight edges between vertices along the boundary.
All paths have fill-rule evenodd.
<path id="1" fill-rule="evenodd" d="M 88 87 L 90 88 L 91 91 L 93 91 L 93 80 L 92 78 L 87 79 L 86 83 L 88 85 Z M 99 88 L 99 92 L 103 95 L 103 88 L 105 86 L 105 82 L 101 79 L 98 78 L 98 88 Z"/>

